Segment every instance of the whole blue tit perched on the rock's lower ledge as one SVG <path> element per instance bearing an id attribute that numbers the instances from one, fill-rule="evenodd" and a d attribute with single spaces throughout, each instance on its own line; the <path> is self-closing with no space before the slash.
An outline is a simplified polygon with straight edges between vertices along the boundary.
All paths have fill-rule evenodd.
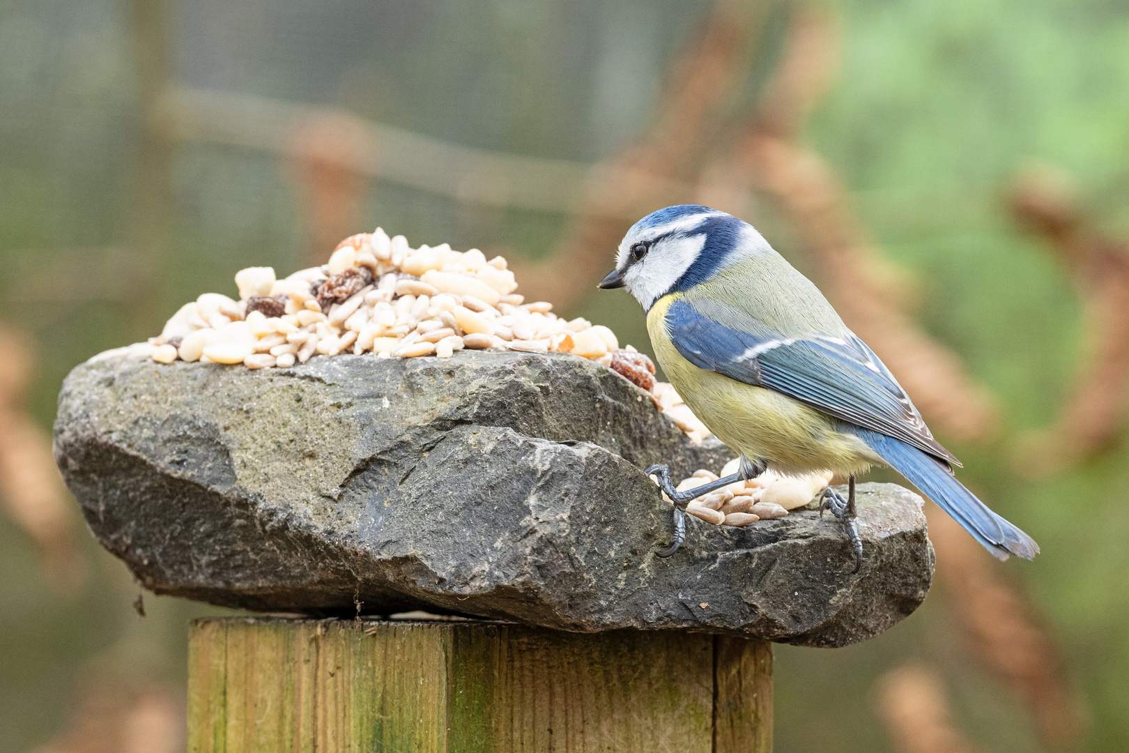
<path id="1" fill-rule="evenodd" d="M 636 222 L 601 288 L 627 288 L 647 312 L 647 332 L 667 378 L 694 414 L 741 454 L 738 472 L 677 492 L 666 466 L 653 466 L 682 506 L 753 478 L 833 471 L 848 499 L 829 489 L 823 509 L 847 527 L 861 561 L 855 476 L 890 466 L 948 513 L 989 552 L 1027 559 L 1039 545 L 954 476 L 956 457 L 933 438 L 890 370 L 828 303 L 747 222 L 684 204 Z"/>

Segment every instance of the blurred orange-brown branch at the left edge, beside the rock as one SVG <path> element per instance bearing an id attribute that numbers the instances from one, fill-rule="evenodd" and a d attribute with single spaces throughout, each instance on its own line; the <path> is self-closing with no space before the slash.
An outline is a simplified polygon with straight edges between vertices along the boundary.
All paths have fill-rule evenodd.
<path id="1" fill-rule="evenodd" d="M 29 338 L 0 325 L 0 498 L 12 520 L 35 542 L 46 580 L 73 593 L 86 579 L 87 561 L 75 536 L 70 494 L 51 452 L 51 437 L 23 408 L 34 357 Z"/>

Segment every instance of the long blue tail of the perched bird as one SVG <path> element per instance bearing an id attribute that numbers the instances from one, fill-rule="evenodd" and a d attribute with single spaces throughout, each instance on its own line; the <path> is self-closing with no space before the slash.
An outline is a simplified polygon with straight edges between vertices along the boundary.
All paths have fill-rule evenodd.
<path id="1" fill-rule="evenodd" d="M 992 513 L 929 455 L 900 439 L 869 429 L 851 427 L 851 431 L 937 502 L 995 557 L 1006 560 L 1008 554 L 1018 554 L 1030 560 L 1039 553 L 1039 544 L 1031 536 Z"/>

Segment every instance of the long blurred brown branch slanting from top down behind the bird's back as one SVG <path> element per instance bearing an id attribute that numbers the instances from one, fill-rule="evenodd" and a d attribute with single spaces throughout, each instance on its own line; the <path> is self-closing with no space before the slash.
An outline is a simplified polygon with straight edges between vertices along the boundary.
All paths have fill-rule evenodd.
<path id="1" fill-rule="evenodd" d="M 828 298 L 898 376 L 926 419 L 960 439 L 987 439 L 998 423 L 991 395 L 956 353 L 907 314 L 905 274 L 867 238 L 833 169 L 798 142 L 807 113 L 831 78 L 835 38 L 835 23 L 826 11 L 796 14 L 777 75 L 735 143 L 733 169 L 788 212 L 819 262 Z"/>

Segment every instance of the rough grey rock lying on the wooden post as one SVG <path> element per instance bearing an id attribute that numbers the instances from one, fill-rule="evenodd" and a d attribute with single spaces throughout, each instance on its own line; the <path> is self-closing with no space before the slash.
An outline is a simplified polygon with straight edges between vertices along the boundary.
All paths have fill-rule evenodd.
<path id="1" fill-rule="evenodd" d="M 863 568 L 829 516 L 688 518 L 692 445 L 627 379 L 580 358 L 314 358 L 291 369 L 120 358 L 63 386 L 55 455 L 98 541 L 147 588 L 310 614 L 427 610 L 574 631 L 695 629 L 864 640 L 933 576 L 921 500 L 859 487 Z"/>

